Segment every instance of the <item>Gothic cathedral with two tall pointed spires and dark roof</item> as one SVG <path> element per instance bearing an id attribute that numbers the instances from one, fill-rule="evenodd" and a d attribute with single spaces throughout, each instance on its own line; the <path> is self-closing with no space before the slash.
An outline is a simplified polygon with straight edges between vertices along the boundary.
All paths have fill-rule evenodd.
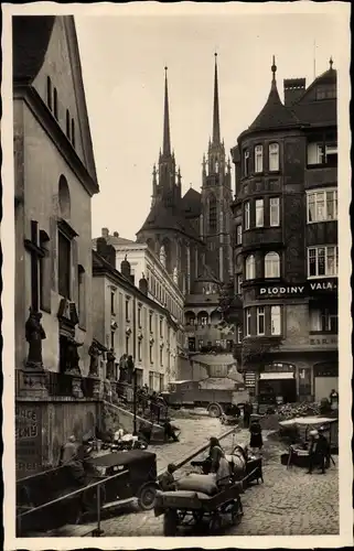
<path id="1" fill-rule="evenodd" d="M 169 89 L 165 67 L 163 141 L 152 171 L 150 213 L 137 233 L 160 258 L 184 295 L 201 279 L 222 283 L 233 273 L 230 247 L 230 162 L 221 139 L 217 54 L 215 54 L 213 134 L 203 158 L 201 193 L 182 195 L 181 169 L 171 147 Z"/>

